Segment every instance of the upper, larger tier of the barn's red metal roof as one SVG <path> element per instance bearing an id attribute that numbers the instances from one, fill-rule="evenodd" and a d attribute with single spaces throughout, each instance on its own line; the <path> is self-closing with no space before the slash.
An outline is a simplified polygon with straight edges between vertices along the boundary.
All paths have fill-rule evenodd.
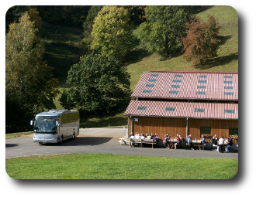
<path id="1" fill-rule="evenodd" d="M 144 72 L 131 97 L 238 100 L 238 73 Z"/>

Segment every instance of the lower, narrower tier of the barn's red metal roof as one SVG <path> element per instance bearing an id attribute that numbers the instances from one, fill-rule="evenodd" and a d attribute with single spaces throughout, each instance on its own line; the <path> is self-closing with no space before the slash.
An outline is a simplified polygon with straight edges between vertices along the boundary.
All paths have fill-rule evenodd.
<path id="1" fill-rule="evenodd" d="M 131 100 L 125 115 L 238 120 L 238 104 Z"/>

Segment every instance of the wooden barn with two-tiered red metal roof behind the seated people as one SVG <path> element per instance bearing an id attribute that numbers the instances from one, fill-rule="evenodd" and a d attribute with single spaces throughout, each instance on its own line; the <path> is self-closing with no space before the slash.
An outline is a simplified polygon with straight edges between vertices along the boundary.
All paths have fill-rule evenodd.
<path id="1" fill-rule="evenodd" d="M 144 72 L 131 97 L 128 135 L 236 134 L 238 147 L 238 73 Z"/>

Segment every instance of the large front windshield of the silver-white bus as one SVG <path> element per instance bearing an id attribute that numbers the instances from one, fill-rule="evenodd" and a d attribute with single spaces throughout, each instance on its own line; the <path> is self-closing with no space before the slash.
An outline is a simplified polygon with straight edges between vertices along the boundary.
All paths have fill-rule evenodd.
<path id="1" fill-rule="evenodd" d="M 34 133 L 56 134 L 57 117 L 55 116 L 36 116 Z"/>

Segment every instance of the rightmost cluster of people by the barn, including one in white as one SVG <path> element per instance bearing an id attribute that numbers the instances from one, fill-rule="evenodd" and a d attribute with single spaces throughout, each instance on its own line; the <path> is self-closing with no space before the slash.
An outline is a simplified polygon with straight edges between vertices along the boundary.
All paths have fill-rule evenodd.
<path id="1" fill-rule="evenodd" d="M 217 138 L 216 134 L 211 138 L 211 149 L 216 148 L 217 152 L 222 153 L 223 148 L 225 147 L 225 151 L 229 152 L 229 148 L 232 146 L 232 138 Z"/>

